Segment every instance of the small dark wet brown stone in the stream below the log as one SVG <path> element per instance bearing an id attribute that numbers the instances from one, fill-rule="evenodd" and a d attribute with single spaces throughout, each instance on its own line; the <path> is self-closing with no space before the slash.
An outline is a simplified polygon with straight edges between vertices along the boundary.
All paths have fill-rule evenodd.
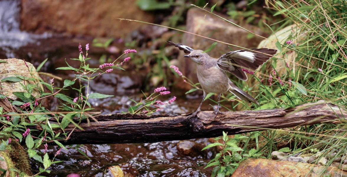
<path id="1" fill-rule="evenodd" d="M 177 151 L 184 156 L 188 156 L 192 158 L 199 157 L 199 156 L 201 156 L 202 158 L 207 157 L 207 151 L 206 150 L 201 151 L 204 148 L 204 146 L 194 141 L 191 141 L 191 140 L 179 141 L 176 146 L 177 146 Z"/>

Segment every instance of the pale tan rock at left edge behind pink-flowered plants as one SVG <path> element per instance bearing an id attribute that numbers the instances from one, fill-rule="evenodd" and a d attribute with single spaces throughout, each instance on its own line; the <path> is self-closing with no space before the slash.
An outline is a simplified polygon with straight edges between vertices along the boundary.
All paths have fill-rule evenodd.
<path id="1" fill-rule="evenodd" d="M 2 61 L 6 61 L 6 62 L 0 63 L 0 74 L 4 74 L 4 75 L 0 76 L 0 80 L 4 79 L 6 77 L 16 77 L 14 74 L 16 74 L 18 76 L 24 76 L 24 77 L 32 78 L 32 76 L 29 73 L 29 69 L 32 70 L 34 77 L 40 78 L 39 74 L 37 74 L 37 72 L 36 72 L 36 68 L 29 62 L 26 62 L 26 64 L 29 67 L 29 69 L 28 69 L 28 67 L 26 67 L 26 65 L 24 63 L 24 60 L 19 60 L 16 58 L 9 58 L 9 59 L 3 59 Z M 25 73 L 25 74 L 22 74 L 22 73 Z M 8 74 L 8 75 L 5 75 L 5 74 Z M 7 96 L 8 98 L 10 98 L 12 100 L 20 100 L 16 95 L 13 94 L 13 92 L 27 92 L 20 84 L 24 84 L 24 81 L 1 82 L 2 94 Z M 27 85 L 27 84 L 35 85 L 35 82 L 26 80 L 25 85 Z M 40 85 L 40 86 L 42 86 L 42 85 Z M 40 90 L 37 87 L 35 87 L 32 91 L 32 96 L 37 98 L 38 95 L 40 95 Z M 0 106 L 2 106 L 4 108 L 4 110 L 12 112 L 11 105 L 5 99 L 0 100 Z"/>

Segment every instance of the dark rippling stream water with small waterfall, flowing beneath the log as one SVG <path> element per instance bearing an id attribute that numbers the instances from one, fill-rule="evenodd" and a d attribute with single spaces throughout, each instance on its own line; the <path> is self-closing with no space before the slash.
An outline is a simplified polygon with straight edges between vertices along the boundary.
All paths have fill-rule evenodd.
<path id="1" fill-rule="evenodd" d="M 71 77 L 71 73 L 59 72 L 54 68 L 65 65 L 65 58 L 76 58 L 78 43 L 91 43 L 92 38 L 76 38 L 49 33 L 38 35 L 20 31 L 19 12 L 19 0 L 0 0 L 0 58 L 24 58 L 36 67 L 45 58 L 49 58 L 42 71 L 63 78 Z M 94 60 L 90 60 L 90 64 L 98 66 L 98 59 L 105 51 L 93 47 L 90 51 L 90 56 L 94 58 Z M 127 111 L 132 103 L 130 99 L 140 100 L 143 96 L 141 90 L 146 84 L 144 78 L 147 73 L 146 70 L 141 70 L 139 73 L 130 68 L 127 71 L 104 74 L 95 79 L 90 85 L 91 92 L 115 95 L 107 99 L 91 100 L 95 111 L 100 111 L 102 114 L 120 113 Z M 168 100 L 174 95 L 177 96 L 177 100 L 165 107 L 162 113 L 178 115 L 194 112 L 202 99 L 201 96 L 186 96 L 185 91 L 171 90 L 171 92 L 172 94 L 164 97 L 163 100 Z M 74 96 L 73 92 L 70 94 L 71 97 Z M 47 100 L 47 102 L 49 102 L 46 104 L 47 108 L 57 109 L 57 100 Z M 202 110 L 213 110 L 209 104 L 215 105 L 211 101 L 205 101 Z M 193 141 L 203 146 L 209 143 L 208 138 Z M 203 168 L 213 152 L 207 152 L 205 157 L 201 155 L 184 156 L 177 151 L 178 142 L 84 145 L 87 148 L 88 158 L 75 149 L 62 149 L 56 159 L 64 160 L 64 162 L 53 164 L 49 169 L 52 172 L 45 175 L 65 177 L 70 173 L 77 173 L 83 177 L 112 177 L 107 167 L 119 165 L 127 177 L 210 176 L 211 168 L 206 170 Z M 49 146 L 48 153 L 51 158 L 54 157 L 57 150 L 57 146 Z M 84 148 L 81 150 L 85 151 Z M 43 147 L 41 151 L 43 152 Z M 39 163 L 31 159 L 31 165 L 33 172 L 39 171 Z"/>

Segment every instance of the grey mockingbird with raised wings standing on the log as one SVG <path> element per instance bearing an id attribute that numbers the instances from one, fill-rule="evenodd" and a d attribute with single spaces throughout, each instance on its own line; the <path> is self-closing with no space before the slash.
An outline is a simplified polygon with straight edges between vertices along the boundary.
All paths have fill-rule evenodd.
<path id="1" fill-rule="evenodd" d="M 242 81 L 247 81 L 247 75 L 242 68 L 235 66 L 239 65 L 244 68 L 256 70 L 259 66 L 268 61 L 277 50 L 275 49 L 251 49 L 251 50 L 236 50 L 223 54 L 221 57 L 212 58 L 202 50 L 194 50 L 186 45 L 180 43 L 174 43 L 166 41 L 170 45 L 178 47 L 179 50 L 183 50 L 187 55 L 183 57 L 190 57 L 196 63 L 196 74 L 200 82 L 202 90 L 204 91 L 204 101 L 207 93 L 218 94 L 218 106 L 213 113 L 217 116 L 219 111 L 219 99 L 222 93 L 231 92 L 238 99 L 245 100 L 249 103 L 259 104 L 251 95 L 247 94 L 243 90 L 239 89 L 234 83 L 232 83 L 227 76 L 226 72 L 235 75 Z M 196 115 L 201 112 L 200 107 L 194 112 Z"/>

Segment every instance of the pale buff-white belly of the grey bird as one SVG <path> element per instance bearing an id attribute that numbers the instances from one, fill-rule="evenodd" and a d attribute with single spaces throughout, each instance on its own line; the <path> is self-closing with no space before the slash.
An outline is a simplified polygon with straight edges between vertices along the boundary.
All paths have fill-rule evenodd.
<path id="1" fill-rule="evenodd" d="M 215 67 L 197 72 L 197 77 L 202 89 L 207 93 L 220 94 L 229 90 L 229 78 Z"/>

